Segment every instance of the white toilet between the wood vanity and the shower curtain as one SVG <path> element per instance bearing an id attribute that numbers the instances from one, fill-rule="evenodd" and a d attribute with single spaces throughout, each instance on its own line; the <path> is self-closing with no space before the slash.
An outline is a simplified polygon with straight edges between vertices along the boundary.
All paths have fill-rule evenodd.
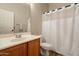
<path id="1" fill-rule="evenodd" d="M 49 43 L 41 43 L 41 55 L 42 56 L 49 56 L 50 55 L 50 50 L 51 50 L 51 45 Z"/>

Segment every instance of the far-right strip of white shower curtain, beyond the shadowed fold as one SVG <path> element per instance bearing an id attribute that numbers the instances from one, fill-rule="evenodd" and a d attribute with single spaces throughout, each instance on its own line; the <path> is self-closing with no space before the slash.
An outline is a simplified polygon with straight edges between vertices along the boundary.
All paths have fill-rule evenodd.
<path id="1" fill-rule="evenodd" d="M 75 6 L 73 45 L 71 54 L 79 56 L 79 4 Z"/>

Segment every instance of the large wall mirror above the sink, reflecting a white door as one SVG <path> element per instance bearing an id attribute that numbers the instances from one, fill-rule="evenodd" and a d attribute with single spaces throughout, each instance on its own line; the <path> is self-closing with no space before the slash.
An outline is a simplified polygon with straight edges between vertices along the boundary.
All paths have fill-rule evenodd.
<path id="1" fill-rule="evenodd" d="M 0 34 L 27 32 L 30 30 L 28 26 L 30 26 L 30 5 L 0 4 Z"/>

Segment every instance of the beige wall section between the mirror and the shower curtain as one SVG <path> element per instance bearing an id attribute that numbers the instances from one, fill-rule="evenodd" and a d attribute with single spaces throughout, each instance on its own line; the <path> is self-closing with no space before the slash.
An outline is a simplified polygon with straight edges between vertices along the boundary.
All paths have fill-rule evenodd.
<path id="1" fill-rule="evenodd" d="M 31 32 L 32 34 L 40 34 L 42 29 L 42 12 L 48 10 L 48 4 L 32 4 L 31 5 Z"/>

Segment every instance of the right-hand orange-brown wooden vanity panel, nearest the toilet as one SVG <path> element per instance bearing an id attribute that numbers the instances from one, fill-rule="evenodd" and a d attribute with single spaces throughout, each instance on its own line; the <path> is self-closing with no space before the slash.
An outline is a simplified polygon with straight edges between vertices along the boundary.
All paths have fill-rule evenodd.
<path id="1" fill-rule="evenodd" d="M 40 55 L 40 39 L 28 42 L 28 56 Z"/>

